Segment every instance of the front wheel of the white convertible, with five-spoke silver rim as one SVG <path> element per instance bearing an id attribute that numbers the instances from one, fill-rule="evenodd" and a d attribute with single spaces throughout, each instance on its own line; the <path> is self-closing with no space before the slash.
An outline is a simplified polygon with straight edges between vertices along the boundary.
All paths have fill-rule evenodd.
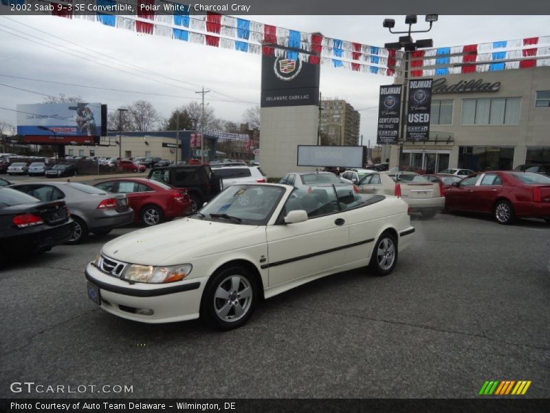
<path id="1" fill-rule="evenodd" d="M 221 330 L 245 324 L 259 297 L 256 279 L 248 269 L 231 266 L 214 273 L 201 301 L 201 318 Z"/>

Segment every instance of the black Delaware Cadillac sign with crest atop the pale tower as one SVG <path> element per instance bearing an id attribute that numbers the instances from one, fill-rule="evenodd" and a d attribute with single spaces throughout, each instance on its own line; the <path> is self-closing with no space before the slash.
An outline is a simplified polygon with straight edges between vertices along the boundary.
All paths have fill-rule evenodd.
<path id="1" fill-rule="evenodd" d="M 319 66 L 262 56 L 261 107 L 319 105 Z"/>

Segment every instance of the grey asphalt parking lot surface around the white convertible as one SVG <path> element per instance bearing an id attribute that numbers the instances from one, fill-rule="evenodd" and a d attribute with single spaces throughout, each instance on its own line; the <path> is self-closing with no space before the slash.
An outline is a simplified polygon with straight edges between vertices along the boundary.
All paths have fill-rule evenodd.
<path id="1" fill-rule="evenodd" d="M 261 303 L 243 328 L 147 325 L 89 301 L 100 246 L 135 227 L 0 273 L 1 397 L 476 397 L 485 380 L 550 394 L 550 226 L 414 218 L 392 275 L 340 273 Z M 133 392 L 12 393 L 10 383 Z"/>

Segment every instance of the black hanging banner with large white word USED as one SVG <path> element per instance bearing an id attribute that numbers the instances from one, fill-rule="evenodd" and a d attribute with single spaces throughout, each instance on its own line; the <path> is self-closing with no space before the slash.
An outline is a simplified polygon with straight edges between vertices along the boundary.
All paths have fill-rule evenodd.
<path id="1" fill-rule="evenodd" d="M 421 79 L 409 82 L 406 140 L 430 138 L 432 80 Z"/>

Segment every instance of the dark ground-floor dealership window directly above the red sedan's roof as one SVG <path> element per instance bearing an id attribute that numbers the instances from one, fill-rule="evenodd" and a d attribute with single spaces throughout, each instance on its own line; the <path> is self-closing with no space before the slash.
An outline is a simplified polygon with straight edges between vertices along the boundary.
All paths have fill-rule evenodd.
<path id="1" fill-rule="evenodd" d="M 459 168 L 507 171 L 514 163 L 513 147 L 459 147 Z"/>

